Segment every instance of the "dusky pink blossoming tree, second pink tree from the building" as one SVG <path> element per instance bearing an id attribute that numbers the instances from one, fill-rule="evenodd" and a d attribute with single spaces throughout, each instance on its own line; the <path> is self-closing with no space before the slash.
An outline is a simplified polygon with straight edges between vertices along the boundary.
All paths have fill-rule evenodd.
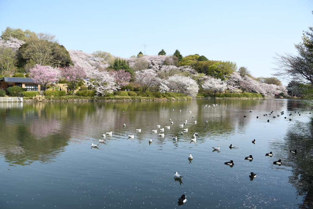
<path id="1" fill-rule="evenodd" d="M 74 94 L 74 90 L 77 84 L 86 77 L 85 71 L 78 65 L 64 67 L 61 68 L 60 71 L 61 76 L 64 77 L 67 80 L 67 82 L 72 85 L 73 87 L 72 94 Z"/>

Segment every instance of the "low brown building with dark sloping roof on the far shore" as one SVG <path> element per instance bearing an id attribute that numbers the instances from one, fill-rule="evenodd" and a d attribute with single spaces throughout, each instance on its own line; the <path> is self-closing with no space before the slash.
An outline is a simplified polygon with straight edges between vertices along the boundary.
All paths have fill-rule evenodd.
<path id="1" fill-rule="evenodd" d="M 0 89 L 7 92 L 8 87 L 21 86 L 27 91 L 38 91 L 40 85 L 36 84 L 31 78 L 3 77 L 0 78 Z"/>

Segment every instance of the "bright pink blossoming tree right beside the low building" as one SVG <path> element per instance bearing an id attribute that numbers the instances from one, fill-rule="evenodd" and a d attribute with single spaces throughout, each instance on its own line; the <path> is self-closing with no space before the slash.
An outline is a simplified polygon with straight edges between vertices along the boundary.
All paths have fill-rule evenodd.
<path id="1" fill-rule="evenodd" d="M 44 86 L 44 91 L 46 91 L 48 84 L 59 81 L 59 71 L 51 66 L 41 66 L 36 64 L 34 65 L 34 68 L 29 69 L 29 71 L 29 77 L 32 78 L 35 83 Z"/>

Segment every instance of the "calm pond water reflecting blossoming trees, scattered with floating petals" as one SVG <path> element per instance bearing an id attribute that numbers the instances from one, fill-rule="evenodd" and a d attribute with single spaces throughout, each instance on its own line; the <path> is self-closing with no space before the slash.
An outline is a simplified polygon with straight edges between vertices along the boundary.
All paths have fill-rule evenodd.
<path id="1" fill-rule="evenodd" d="M 309 120 L 298 100 L 3 103 L 0 207 L 299 208 L 305 192 L 297 166 L 312 146 L 303 125 Z M 273 165 L 278 159 L 283 164 Z M 233 167 L 224 165 L 229 160 Z M 250 172 L 257 177 L 250 180 Z M 187 202 L 178 206 L 182 194 Z"/>

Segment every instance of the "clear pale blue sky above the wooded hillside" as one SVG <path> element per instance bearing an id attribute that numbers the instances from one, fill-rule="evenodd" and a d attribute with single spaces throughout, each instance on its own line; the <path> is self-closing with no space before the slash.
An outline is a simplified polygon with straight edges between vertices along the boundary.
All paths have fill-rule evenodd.
<path id="1" fill-rule="evenodd" d="M 68 50 L 126 58 L 177 49 L 236 62 L 256 77 L 271 77 L 275 53 L 296 54 L 294 44 L 313 26 L 312 0 L 0 0 L 0 8 L 0 30 L 48 32 Z"/>

